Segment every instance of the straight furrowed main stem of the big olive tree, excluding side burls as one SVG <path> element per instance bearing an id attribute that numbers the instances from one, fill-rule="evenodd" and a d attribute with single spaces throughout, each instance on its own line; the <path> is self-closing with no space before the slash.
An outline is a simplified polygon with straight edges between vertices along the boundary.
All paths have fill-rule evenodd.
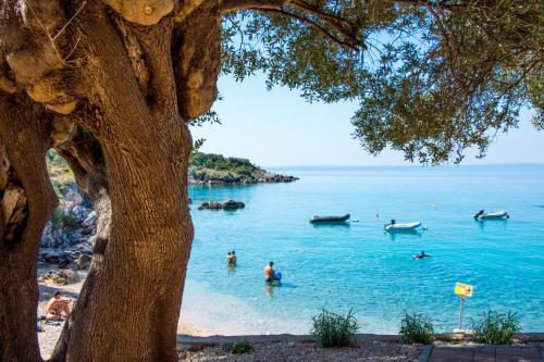
<path id="1" fill-rule="evenodd" d="M 126 72 L 129 59 L 120 57 L 125 45 L 103 12 L 85 21 L 81 43 L 94 62 L 82 77 L 90 86 L 90 102 L 100 104 L 94 123 L 85 125 L 103 152 L 111 225 L 107 246 L 95 247 L 89 280 L 53 360 L 175 361 L 193 224 L 191 138 L 177 111 L 173 22 L 151 29 L 118 24 L 148 54 L 153 76 L 144 91 L 138 77 Z"/>

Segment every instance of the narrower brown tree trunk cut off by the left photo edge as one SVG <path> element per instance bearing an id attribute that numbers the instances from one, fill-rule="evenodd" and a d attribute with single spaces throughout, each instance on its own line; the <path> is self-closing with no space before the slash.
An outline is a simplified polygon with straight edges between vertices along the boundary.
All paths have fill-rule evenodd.
<path id="1" fill-rule="evenodd" d="M 49 134 L 42 107 L 0 95 L 0 361 L 41 360 L 38 248 L 57 203 L 45 159 Z"/>

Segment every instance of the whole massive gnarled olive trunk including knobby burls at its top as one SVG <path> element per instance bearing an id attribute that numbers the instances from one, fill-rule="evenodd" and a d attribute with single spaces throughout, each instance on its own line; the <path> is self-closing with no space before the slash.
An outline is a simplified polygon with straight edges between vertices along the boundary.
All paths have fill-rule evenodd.
<path id="1" fill-rule="evenodd" d="M 0 88 L 25 90 L 59 129 L 67 122 L 91 135 L 54 138 L 94 201 L 99 235 L 52 360 L 175 361 L 193 241 L 187 123 L 217 98 L 220 3 L 0 5 Z"/>

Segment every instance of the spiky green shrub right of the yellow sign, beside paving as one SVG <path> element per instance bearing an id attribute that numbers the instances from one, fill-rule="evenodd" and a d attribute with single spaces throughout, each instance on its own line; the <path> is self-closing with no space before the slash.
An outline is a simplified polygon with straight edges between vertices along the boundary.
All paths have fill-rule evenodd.
<path id="1" fill-rule="evenodd" d="M 521 332 L 516 313 L 502 314 L 487 311 L 477 322 L 472 321 L 474 340 L 485 345 L 511 345 L 514 336 Z"/>

